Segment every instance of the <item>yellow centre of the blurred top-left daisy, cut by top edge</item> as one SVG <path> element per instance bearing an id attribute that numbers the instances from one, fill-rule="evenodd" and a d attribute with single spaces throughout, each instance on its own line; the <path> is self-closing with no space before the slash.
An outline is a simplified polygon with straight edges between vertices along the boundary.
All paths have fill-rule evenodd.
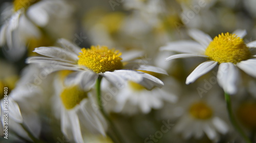
<path id="1" fill-rule="evenodd" d="M 19 9 L 28 9 L 31 5 L 39 2 L 40 0 L 14 0 L 13 9 L 18 11 Z"/>

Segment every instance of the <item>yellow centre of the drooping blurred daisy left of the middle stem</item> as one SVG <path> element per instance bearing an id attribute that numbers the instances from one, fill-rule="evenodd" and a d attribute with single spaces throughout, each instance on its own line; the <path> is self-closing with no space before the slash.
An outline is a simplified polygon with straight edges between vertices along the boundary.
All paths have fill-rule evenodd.
<path id="1" fill-rule="evenodd" d="M 79 104 L 82 99 L 87 98 L 87 93 L 75 85 L 73 87 L 65 88 L 60 94 L 61 101 L 66 109 L 72 109 Z"/>

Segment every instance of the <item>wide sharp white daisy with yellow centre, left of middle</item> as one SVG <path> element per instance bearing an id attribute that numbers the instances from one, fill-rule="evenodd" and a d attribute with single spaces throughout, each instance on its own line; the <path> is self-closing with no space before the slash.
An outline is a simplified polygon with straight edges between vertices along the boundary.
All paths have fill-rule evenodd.
<path id="1" fill-rule="evenodd" d="M 164 70 L 150 65 L 142 65 L 140 60 L 125 62 L 137 58 L 141 53 L 129 52 L 124 54 L 122 59 L 118 50 L 109 49 L 106 46 L 80 49 L 64 39 L 60 39 L 59 43 L 63 48 L 35 48 L 34 52 L 49 56 L 49 58 L 30 57 L 27 59 L 27 63 L 53 65 L 53 71 L 76 71 L 66 78 L 66 84 L 80 84 L 84 90 L 91 89 L 99 76 L 119 88 L 125 85 L 127 80 L 139 83 L 148 90 L 163 86 L 160 79 L 138 70 L 166 74 Z"/>

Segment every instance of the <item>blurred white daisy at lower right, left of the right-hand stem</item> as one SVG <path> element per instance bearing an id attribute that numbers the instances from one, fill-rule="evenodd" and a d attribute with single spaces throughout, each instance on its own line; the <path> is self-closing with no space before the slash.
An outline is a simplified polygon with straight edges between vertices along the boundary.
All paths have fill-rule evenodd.
<path id="1" fill-rule="evenodd" d="M 226 117 L 223 117 L 223 107 L 225 103 L 216 95 L 199 98 L 196 94 L 190 94 L 189 97 L 181 98 L 169 109 L 170 114 L 178 117 L 174 131 L 181 133 L 185 139 L 200 139 L 206 135 L 210 140 L 218 141 L 219 133 L 226 134 L 229 130 L 224 120 Z"/>

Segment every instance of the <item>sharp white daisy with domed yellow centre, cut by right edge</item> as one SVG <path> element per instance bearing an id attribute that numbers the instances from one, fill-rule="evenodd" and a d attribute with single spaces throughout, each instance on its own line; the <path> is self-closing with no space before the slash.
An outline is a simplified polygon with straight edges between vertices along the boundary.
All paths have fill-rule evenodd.
<path id="1" fill-rule="evenodd" d="M 203 74 L 219 65 L 217 79 L 220 86 L 228 94 L 237 93 L 237 81 L 239 70 L 243 70 L 250 76 L 256 77 L 255 48 L 256 41 L 245 44 L 243 37 L 245 30 L 237 30 L 230 33 L 222 33 L 213 40 L 209 35 L 199 30 L 189 30 L 188 34 L 195 41 L 170 42 L 161 50 L 181 52 L 171 55 L 166 60 L 177 58 L 204 57 L 208 60 L 200 64 L 186 79 L 186 84 L 194 82 Z"/>

